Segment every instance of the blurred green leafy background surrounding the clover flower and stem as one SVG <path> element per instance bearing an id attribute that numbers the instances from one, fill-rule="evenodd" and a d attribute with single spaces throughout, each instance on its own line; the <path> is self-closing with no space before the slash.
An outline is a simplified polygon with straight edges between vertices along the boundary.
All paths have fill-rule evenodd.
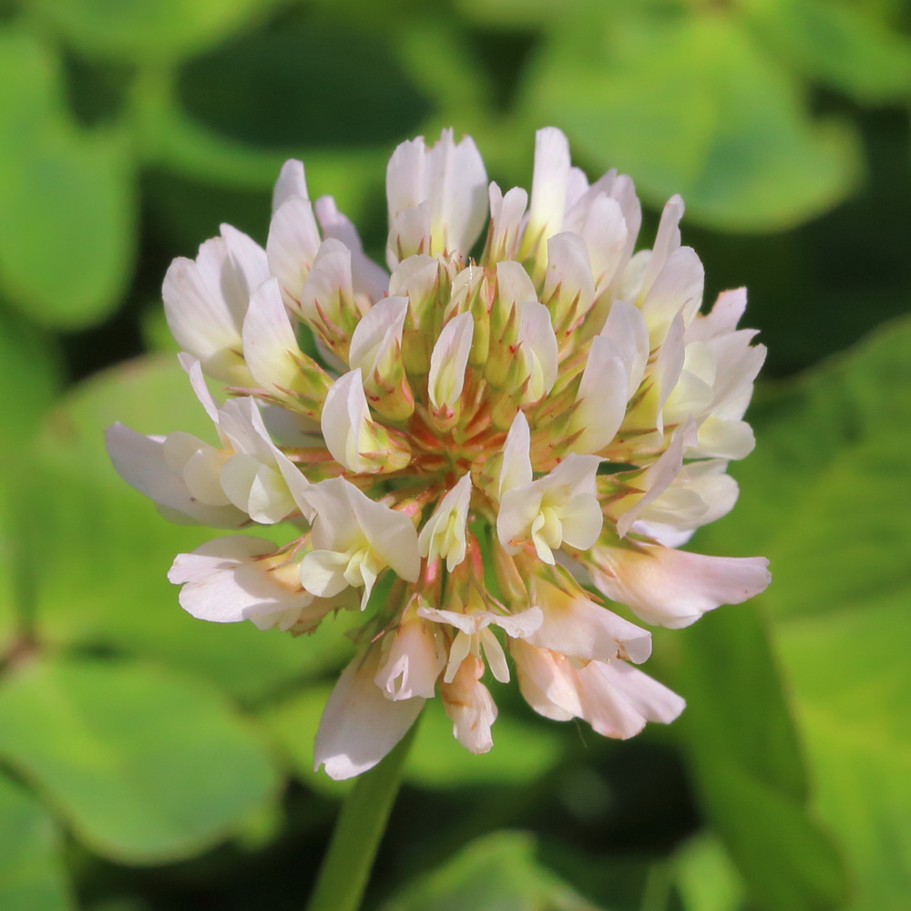
<path id="1" fill-rule="evenodd" d="M 312 735 L 350 644 L 190 619 L 211 533 L 102 429 L 206 432 L 159 300 L 288 157 L 382 261 L 395 143 L 454 126 L 501 186 L 533 132 L 687 202 L 707 299 L 769 347 L 734 513 L 762 598 L 656 633 L 689 708 L 606 742 L 496 688 L 425 711 L 368 907 L 911 907 L 911 11 L 902 0 L 0 2 L 0 907 L 301 907 L 345 787 Z"/>

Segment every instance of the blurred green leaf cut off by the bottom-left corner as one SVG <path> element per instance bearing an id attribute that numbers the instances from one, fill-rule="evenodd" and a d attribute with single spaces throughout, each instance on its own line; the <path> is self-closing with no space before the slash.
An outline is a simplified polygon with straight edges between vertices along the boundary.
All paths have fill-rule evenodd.
<path id="1" fill-rule="evenodd" d="M 0 821 L 0 907 L 75 909 L 54 820 L 34 797 L 4 776 L 0 776 Z"/>

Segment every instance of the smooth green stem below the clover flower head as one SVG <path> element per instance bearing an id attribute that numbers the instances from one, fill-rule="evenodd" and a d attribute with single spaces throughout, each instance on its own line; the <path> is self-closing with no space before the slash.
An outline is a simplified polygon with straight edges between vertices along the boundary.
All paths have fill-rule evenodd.
<path id="1" fill-rule="evenodd" d="M 307 911 L 357 911 L 361 906 L 417 725 L 345 797 Z"/>

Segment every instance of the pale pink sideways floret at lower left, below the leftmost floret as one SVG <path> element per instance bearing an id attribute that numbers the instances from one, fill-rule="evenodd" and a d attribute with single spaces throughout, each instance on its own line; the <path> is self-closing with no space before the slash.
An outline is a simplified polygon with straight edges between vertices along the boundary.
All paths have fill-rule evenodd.
<path id="1" fill-rule="evenodd" d="M 231 535 L 179 554 L 168 578 L 183 586 L 180 607 L 216 623 L 307 607 L 312 595 L 295 583 L 295 568 L 262 559 L 274 550 L 271 541 L 260 537 Z"/>

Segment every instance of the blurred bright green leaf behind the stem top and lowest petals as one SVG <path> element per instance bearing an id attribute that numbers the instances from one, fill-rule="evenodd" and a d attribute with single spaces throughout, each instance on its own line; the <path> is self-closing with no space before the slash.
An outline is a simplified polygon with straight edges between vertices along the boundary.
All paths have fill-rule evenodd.
<path id="1" fill-rule="evenodd" d="M 347 790 L 324 772 L 313 772 L 313 739 L 330 685 L 309 686 L 271 706 L 263 715 L 290 767 L 314 790 L 337 796 Z M 495 749 L 476 756 L 453 736 L 452 722 L 437 701 L 423 713 L 408 754 L 404 780 L 425 788 L 508 784 L 521 786 L 547 773 L 562 755 L 562 740 L 553 732 L 518 721 L 502 712 L 494 726 Z"/>

